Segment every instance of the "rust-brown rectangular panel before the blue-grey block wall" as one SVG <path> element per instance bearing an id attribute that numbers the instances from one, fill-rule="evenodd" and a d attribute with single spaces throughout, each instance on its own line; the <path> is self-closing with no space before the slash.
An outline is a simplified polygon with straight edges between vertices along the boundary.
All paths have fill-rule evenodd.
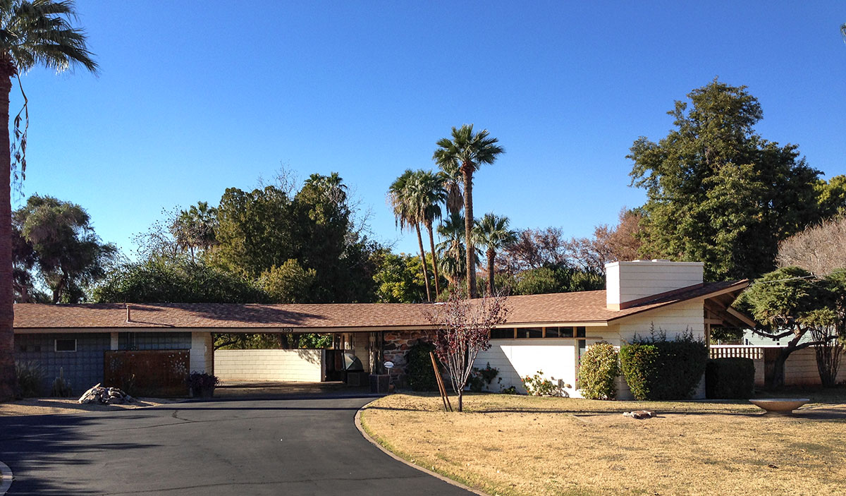
<path id="1" fill-rule="evenodd" d="M 190 350 L 106 351 L 104 386 L 132 396 L 188 395 Z"/>

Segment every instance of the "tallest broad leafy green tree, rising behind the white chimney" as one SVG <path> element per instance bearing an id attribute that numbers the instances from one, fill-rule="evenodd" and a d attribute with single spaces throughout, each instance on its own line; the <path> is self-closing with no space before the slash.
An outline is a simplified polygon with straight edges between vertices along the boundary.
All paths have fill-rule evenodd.
<path id="1" fill-rule="evenodd" d="M 648 198 L 644 249 L 705 262 L 707 279 L 766 273 L 778 241 L 819 218 L 820 173 L 797 146 L 755 132 L 761 104 L 744 86 L 713 80 L 688 96 L 669 112 L 667 137 L 640 137 L 628 156 L 632 184 Z"/>

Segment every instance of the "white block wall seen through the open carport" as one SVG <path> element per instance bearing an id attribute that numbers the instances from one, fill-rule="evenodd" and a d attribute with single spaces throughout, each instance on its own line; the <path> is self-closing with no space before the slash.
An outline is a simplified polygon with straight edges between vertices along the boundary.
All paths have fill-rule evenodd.
<path id="1" fill-rule="evenodd" d="M 217 350 L 215 375 L 224 382 L 319 383 L 326 372 L 324 350 Z"/>

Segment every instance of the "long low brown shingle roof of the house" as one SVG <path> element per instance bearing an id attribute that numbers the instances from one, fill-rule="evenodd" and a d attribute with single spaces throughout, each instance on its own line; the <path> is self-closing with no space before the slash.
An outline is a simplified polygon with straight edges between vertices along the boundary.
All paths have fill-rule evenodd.
<path id="1" fill-rule="evenodd" d="M 610 322 L 642 311 L 743 289 L 747 281 L 677 289 L 620 311 L 608 310 L 605 291 L 524 295 L 508 298 L 508 323 Z M 14 327 L 33 328 L 420 328 L 430 325 L 429 304 L 327 303 L 258 305 L 233 303 L 80 305 L 15 304 Z"/>

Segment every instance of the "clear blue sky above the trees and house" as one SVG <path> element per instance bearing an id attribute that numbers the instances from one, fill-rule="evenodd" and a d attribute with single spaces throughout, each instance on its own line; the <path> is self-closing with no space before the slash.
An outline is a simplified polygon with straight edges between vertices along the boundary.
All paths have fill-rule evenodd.
<path id="1" fill-rule="evenodd" d="M 34 70 L 26 196 L 74 201 L 103 240 L 162 208 L 216 204 L 284 165 L 337 171 L 394 228 L 387 186 L 433 168 L 474 123 L 506 154 L 475 180 L 475 212 L 585 236 L 642 204 L 625 158 L 667 134 L 673 100 L 715 76 L 748 85 L 758 131 L 846 174 L 846 3 L 93 2 L 80 24 L 102 67 Z M 13 93 L 12 108 L 19 105 Z"/>

